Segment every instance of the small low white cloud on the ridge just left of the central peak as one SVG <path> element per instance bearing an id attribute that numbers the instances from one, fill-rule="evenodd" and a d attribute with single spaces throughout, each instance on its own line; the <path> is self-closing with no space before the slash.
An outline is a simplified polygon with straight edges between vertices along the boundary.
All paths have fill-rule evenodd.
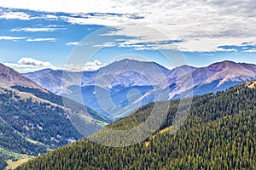
<path id="1" fill-rule="evenodd" d="M 81 65 L 68 64 L 65 65 L 65 70 L 67 71 L 96 71 L 103 66 L 106 66 L 105 63 L 102 63 L 99 60 L 90 61 Z"/>

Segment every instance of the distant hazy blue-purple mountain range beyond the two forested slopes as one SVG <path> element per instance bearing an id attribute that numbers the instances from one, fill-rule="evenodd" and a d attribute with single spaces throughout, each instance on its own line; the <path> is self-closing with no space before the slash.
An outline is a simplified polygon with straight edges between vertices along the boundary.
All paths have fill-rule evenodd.
<path id="1" fill-rule="evenodd" d="M 24 75 L 55 94 L 84 103 L 111 118 L 127 116 L 155 100 L 226 90 L 255 79 L 256 65 L 226 60 L 201 68 L 182 65 L 168 70 L 154 62 L 123 59 L 97 71 L 46 69 Z M 165 93 L 168 94 L 156 97 Z"/>

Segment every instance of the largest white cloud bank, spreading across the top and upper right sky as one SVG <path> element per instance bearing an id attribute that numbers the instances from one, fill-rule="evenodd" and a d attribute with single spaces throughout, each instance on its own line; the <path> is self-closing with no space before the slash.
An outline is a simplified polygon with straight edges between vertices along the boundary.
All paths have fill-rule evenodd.
<path id="1" fill-rule="evenodd" d="M 60 19 L 79 25 L 102 25 L 118 28 L 111 32 L 113 36 L 126 36 L 120 46 L 137 49 L 181 48 L 185 51 L 224 51 L 223 45 L 236 45 L 256 39 L 256 3 L 247 1 L 137 1 L 137 0 L 9 0 L 1 1 L 6 8 L 28 8 L 38 11 L 65 12 L 73 16 Z M 89 13 L 94 13 L 91 15 Z M 26 14 L 5 14 L 5 18 L 27 20 Z M 57 20 L 54 16 L 49 19 Z M 59 19 L 59 20 L 60 20 Z M 119 25 L 125 24 L 120 27 Z M 131 26 L 148 26 L 159 33 L 152 34 L 144 29 Z M 159 36 L 162 33 L 165 36 Z M 234 42 L 230 40 L 234 40 Z M 175 44 L 160 44 L 167 40 L 183 40 Z M 246 40 L 246 41 L 245 41 Z M 137 43 L 143 42 L 137 47 Z M 145 43 L 146 42 L 146 43 Z M 147 42 L 155 44 L 148 45 Z"/>

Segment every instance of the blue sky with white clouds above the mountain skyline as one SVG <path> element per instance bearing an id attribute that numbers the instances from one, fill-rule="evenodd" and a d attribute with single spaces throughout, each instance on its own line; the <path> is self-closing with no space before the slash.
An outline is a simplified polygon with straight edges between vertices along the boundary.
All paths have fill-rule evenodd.
<path id="1" fill-rule="evenodd" d="M 173 68 L 256 64 L 254 0 L 0 1 L 0 62 L 94 71 L 114 60 Z"/>

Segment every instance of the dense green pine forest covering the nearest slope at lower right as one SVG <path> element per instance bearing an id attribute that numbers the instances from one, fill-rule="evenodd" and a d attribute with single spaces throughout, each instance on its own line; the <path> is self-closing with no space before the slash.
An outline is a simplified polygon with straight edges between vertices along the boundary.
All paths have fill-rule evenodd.
<path id="1" fill-rule="evenodd" d="M 28 161 L 17 169 L 255 169 L 256 89 L 244 86 L 197 96 L 177 133 L 178 100 L 159 132 L 139 144 L 113 148 L 83 139 Z M 130 128 L 145 120 L 153 104 L 109 127 Z"/>

